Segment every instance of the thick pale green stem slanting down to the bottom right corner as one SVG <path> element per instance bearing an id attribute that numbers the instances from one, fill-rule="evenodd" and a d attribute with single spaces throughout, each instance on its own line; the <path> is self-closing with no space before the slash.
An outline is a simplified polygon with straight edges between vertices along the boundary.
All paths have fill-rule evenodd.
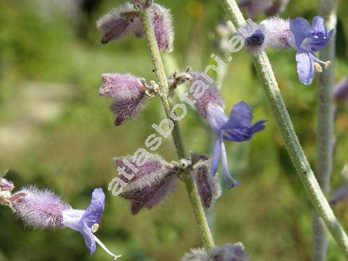
<path id="1" fill-rule="evenodd" d="M 245 19 L 234 0 L 221 0 L 221 5 L 225 9 L 228 17 L 237 26 L 242 26 L 245 24 Z M 335 242 L 345 255 L 345 258 L 348 259 L 347 235 L 345 234 L 345 231 L 343 230 L 339 221 L 336 219 L 335 214 L 333 214 L 333 211 L 326 200 L 322 189 L 320 189 L 319 184 L 315 179 L 315 175 L 310 168 L 306 155 L 301 148 L 301 144 L 299 143 L 299 139 L 294 131 L 289 113 L 287 112 L 285 102 L 280 94 L 276 77 L 274 77 L 274 72 L 271 68 L 271 63 L 269 63 L 267 54 L 263 52 L 262 54 L 255 56 L 253 62 L 258 72 L 258 76 L 262 81 L 262 86 L 269 100 L 269 104 L 271 105 L 271 109 L 274 113 L 274 118 L 276 119 L 278 129 L 283 136 L 287 151 L 290 154 L 292 163 L 296 168 L 303 187 L 305 187 L 308 196 L 310 196 L 317 213 L 326 224 L 326 228 L 329 229 L 333 239 L 335 239 Z"/>

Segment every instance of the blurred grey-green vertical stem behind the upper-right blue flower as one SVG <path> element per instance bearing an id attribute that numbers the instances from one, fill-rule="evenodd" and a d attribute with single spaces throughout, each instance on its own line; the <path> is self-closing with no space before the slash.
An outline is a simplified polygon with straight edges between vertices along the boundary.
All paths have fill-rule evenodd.
<path id="1" fill-rule="evenodd" d="M 328 30 L 335 29 L 337 22 L 337 0 L 320 0 L 321 15 Z M 331 61 L 331 66 L 319 74 L 318 86 L 318 157 L 317 180 L 324 194 L 330 192 L 330 179 L 333 168 L 333 86 L 335 77 L 335 31 L 325 49 L 320 51 L 323 61 Z M 325 225 L 317 213 L 313 215 L 313 260 L 326 260 L 329 238 Z"/>

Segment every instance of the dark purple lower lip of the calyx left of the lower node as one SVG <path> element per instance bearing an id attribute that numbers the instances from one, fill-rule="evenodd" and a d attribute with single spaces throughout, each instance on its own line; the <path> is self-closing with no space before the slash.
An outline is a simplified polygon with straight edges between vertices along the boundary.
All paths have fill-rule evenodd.
<path id="1" fill-rule="evenodd" d="M 156 205 L 162 203 L 168 196 L 171 196 L 175 190 L 177 180 L 178 178 L 176 175 L 171 175 L 148 187 L 131 189 L 120 193 L 120 196 L 130 200 L 132 214 L 137 214 L 143 207 L 152 209 Z"/>

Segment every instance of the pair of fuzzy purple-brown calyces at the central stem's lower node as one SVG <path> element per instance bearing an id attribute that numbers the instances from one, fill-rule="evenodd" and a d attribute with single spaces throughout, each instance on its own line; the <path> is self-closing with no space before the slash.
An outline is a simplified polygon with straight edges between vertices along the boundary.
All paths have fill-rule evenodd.
<path id="1" fill-rule="evenodd" d="M 115 158 L 114 164 L 120 172 L 120 179 L 128 182 L 127 191 L 120 193 L 122 198 L 131 202 L 132 214 L 137 214 L 143 207 L 152 209 L 175 191 L 178 175 L 192 171 L 196 178 L 200 198 L 205 207 L 219 198 L 221 189 L 217 177 L 210 174 L 209 161 L 206 157 L 193 154 L 190 160 L 182 159 L 169 164 L 159 155 L 149 155 L 136 171 L 129 166 L 136 162 L 132 157 Z"/>

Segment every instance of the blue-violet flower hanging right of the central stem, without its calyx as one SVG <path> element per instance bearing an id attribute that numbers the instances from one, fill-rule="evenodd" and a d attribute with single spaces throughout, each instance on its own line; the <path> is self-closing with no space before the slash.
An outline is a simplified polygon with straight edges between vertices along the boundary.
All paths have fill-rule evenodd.
<path id="1" fill-rule="evenodd" d="M 212 175 L 214 176 L 216 174 L 221 158 L 223 177 L 228 184 L 230 184 L 228 179 L 232 181 L 232 184 L 229 186 L 230 189 L 238 185 L 239 182 L 233 179 L 228 170 L 228 159 L 223 141 L 250 141 L 255 133 L 264 130 L 264 122 L 266 122 L 265 120 L 260 120 L 251 125 L 252 119 L 253 111 L 245 102 L 239 102 L 233 106 L 230 118 L 226 116 L 221 106 L 209 104 L 207 108 L 207 120 L 210 127 L 212 127 L 218 136 L 212 159 Z"/>

